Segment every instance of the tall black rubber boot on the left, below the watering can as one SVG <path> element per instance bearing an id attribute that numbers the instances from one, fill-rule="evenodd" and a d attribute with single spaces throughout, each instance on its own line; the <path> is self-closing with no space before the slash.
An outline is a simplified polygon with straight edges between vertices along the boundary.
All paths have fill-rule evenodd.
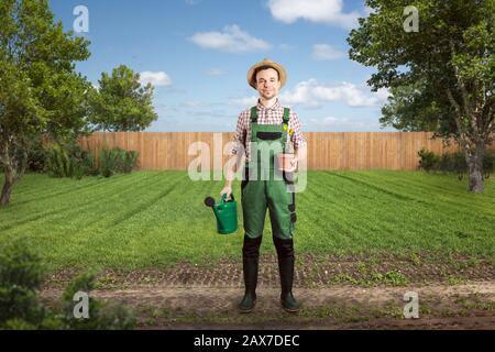
<path id="1" fill-rule="evenodd" d="M 251 312 L 256 305 L 257 264 L 260 260 L 260 244 L 262 237 L 250 239 L 244 235 L 242 246 L 242 270 L 244 272 L 245 293 L 239 309 L 241 312 Z"/>

